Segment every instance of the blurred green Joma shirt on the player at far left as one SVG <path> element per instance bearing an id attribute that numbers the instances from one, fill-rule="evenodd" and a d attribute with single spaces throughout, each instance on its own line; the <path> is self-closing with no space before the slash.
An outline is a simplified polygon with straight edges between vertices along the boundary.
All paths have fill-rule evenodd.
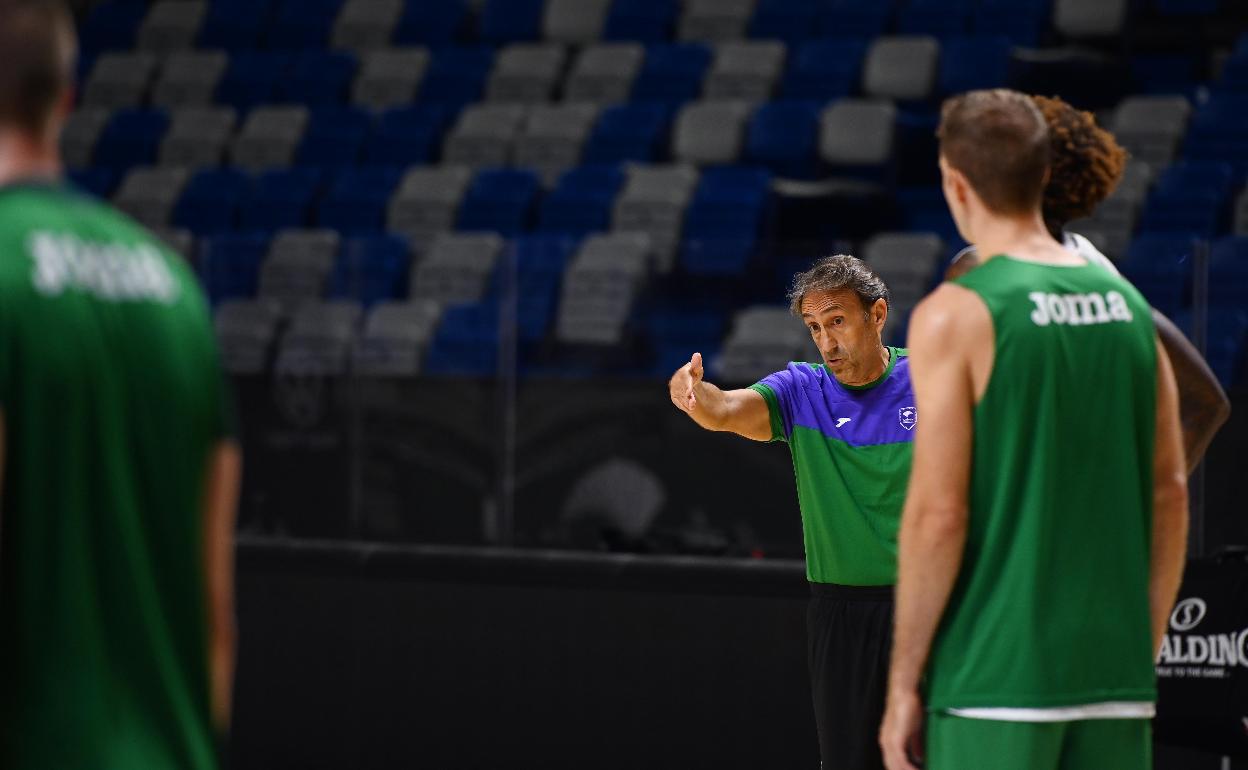
<path id="1" fill-rule="evenodd" d="M 71 190 L 0 188 L 0 766 L 215 766 L 201 502 L 228 421 L 183 260 Z"/>

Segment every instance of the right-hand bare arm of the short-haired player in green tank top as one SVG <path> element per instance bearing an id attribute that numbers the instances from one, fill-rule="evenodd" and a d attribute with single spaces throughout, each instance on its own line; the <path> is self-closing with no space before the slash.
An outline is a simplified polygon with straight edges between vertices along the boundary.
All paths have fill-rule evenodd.
<path id="1" fill-rule="evenodd" d="M 1178 597 L 1187 553 L 1187 468 L 1183 464 L 1178 388 L 1161 342 L 1157 344 L 1157 429 L 1153 442 L 1153 543 L 1148 607 L 1156 654 Z"/>

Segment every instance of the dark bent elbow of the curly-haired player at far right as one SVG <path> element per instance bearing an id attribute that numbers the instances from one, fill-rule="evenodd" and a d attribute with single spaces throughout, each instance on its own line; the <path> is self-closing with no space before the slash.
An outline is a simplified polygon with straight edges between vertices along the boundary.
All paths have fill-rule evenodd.
<path id="1" fill-rule="evenodd" d="M 1169 356 L 1178 386 L 1178 409 L 1183 428 L 1183 454 L 1192 473 L 1204 458 L 1218 428 L 1231 417 L 1231 401 L 1209 364 L 1169 318 L 1153 311 L 1157 336 Z"/>

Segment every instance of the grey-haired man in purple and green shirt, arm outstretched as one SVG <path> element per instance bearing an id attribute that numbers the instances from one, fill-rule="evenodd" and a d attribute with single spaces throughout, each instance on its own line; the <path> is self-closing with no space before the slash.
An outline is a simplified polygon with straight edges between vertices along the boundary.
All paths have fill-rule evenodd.
<path id="1" fill-rule="evenodd" d="M 815 725 L 825 768 L 882 766 L 897 525 L 919 422 L 906 352 L 881 341 L 889 290 L 862 261 L 825 257 L 794 278 L 792 312 L 824 362 L 790 363 L 721 391 L 699 353 L 669 384 L 709 431 L 784 441 L 792 453 L 811 600 L 806 614 Z"/>

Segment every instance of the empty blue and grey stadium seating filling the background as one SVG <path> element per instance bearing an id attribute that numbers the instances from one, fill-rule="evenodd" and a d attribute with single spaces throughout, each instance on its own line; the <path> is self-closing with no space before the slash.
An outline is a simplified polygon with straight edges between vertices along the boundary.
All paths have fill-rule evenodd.
<path id="1" fill-rule="evenodd" d="M 61 147 L 75 183 L 195 262 L 232 372 L 493 374 L 507 305 L 522 368 L 574 371 L 588 347 L 656 374 L 698 344 L 746 382 L 810 353 L 784 308 L 749 306 L 834 248 L 889 282 L 902 341 L 961 245 L 941 100 L 1053 84 L 1131 156 L 1071 230 L 1179 319 L 1207 243 L 1229 383 L 1248 331 L 1248 35 L 1188 54 L 1132 37 L 1214 29 L 1226 6 L 104 0 Z M 812 188 L 847 205 L 786 251 L 786 206 Z M 724 278 L 745 287 L 735 307 L 681 301 Z"/>

